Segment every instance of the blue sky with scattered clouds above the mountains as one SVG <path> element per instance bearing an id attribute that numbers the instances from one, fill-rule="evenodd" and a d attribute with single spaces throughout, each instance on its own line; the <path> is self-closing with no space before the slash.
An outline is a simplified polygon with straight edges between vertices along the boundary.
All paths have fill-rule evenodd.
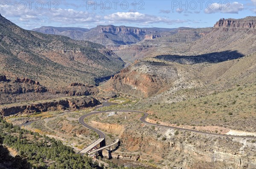
<path id="1" fill-rule="evenodd" d="M 0 0 L 0 14 L 23 29 L 97 25 L 212 27 L 256 16 L 256 0 Z"/>

